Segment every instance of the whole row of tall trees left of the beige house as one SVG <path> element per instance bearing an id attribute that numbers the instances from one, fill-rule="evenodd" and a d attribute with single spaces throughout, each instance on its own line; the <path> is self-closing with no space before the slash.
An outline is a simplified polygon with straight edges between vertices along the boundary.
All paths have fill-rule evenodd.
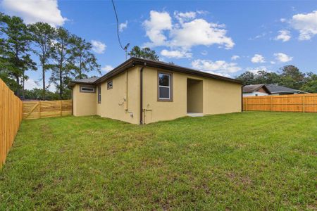
<path id="1" fill-rule="evenodd" d="M 92 44 L 63 27 L 26 25 L 19 17 L 0 13 L 0 46 L 0 78 L 21 98 L 70 98 L 70 80 L 87 78 L 92 70 L 100 73 Z M 42 89 L 24 89 L 27 70 L 41 71 Z M 51 84 L 56 85 L 56 93 L 47 90 Z"/>

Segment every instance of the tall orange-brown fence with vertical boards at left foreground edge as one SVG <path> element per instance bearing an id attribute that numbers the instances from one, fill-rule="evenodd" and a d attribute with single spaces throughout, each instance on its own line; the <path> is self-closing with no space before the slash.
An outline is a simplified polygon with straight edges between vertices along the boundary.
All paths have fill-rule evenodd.
<path id="1" fill-rule="evenodd" d="M 6 161 L 22 120 L 22 101 L 0 79 L 0 167 Z"/>

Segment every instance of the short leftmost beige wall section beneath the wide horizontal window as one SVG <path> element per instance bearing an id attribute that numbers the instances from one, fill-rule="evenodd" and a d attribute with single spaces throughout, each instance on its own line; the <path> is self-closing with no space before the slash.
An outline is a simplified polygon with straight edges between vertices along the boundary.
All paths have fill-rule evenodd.
<path id="1" fill-rule="evenodd" d="M 95 93 L 80 92 L 80 84 L 76 84 L 73 87 L 73 115 L 96 115 L 96 96 L 97 89 Z"/>

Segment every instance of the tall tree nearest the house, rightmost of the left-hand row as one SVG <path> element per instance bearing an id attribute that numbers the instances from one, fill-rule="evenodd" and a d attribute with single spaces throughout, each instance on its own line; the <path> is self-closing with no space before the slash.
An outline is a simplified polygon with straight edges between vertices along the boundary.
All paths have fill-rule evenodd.
<path id="1" fill-rule="evenodd" d="M 72 64 L 70 69 L 76 79 L 87 78 L 86 73 L 96 70 L 101 74 L 100 65 L 97 58 L 92 53 L 92 44 L 80 37 L 73 37 L 73 46 L 71 49 Z"/>

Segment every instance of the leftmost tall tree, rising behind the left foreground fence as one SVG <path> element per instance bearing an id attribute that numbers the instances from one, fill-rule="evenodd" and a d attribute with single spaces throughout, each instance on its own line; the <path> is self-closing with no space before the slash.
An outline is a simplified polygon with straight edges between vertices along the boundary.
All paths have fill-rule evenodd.
<path id="1" fill-rule="evenodd" d="M 31 36 L 27 30 L 27 26 L 21 18 L 16 16 L 1 15 L 5 27 L 1 31 L 6 35 L 2 42 L 2 57 L 6 61 L 6 70 L 8 75 L 15 79 L 18 86 L 16 94 L 20 95 L 20 82 L 23 84 L 24 97 L 24 81 L 27 79 L 25 70 L 37 70 L 36 63 L 30 56 Z"/>

